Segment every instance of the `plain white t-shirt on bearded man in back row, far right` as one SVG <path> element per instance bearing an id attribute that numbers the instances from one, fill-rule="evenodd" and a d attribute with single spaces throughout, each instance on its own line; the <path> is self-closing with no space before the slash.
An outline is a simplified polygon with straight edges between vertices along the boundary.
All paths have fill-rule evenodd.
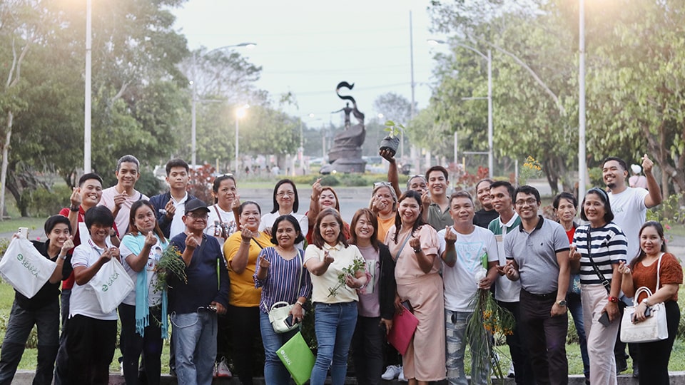
<path id="1" fill-rule="evenodd" d="M 626 188 L 622 193 L 609 193 L 609 203 L 614 212 L 614 223 L 621 227 L 628 240 L 626 264 L 630 264 L 640 251 L 640 227 L 644 225 L 647 207 L 644 198 L 649 191 L 644 188 Z"/>

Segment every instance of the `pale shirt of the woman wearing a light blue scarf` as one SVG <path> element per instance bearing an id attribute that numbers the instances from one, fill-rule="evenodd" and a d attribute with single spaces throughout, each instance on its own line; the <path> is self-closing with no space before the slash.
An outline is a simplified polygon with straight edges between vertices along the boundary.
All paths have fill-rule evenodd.
<path id="1" fill-rule="evenodd" d="M 148 281 L 148 306 L 156 306 L 160 303 L 162 298 L 162 292 L 155 292 L 153 287 L 155 282 L 157 282 L 157 274 L 155 273 L 155 268 L 157 267 L 157 262 L 162 257 L 162 252 L 169 245 L 168 242 L 161 243 L 159 237 L 157 238 L 157 243 L 151 247 L 150 254 L 148 255 L 148 262 L 145 266 L 145 271 L 147 274 Z M 123 236 L 121 240 L 121 245 L 119 247 L 119 252 L 121 253 L 121 260 L 123 261 L 123 269 L 126 270 L 128 276 L 131 277 L 133 284 L 136 285 L 138 282 L 138 272 L 133 270 L 131 266 L 128 265 L 128 257 L 133 255 L 138 255 L 138 253 L 143 250 L 145 245 L 145 235 L 131 235 L 127 234 Z M 130 293 L 123 299 L 124 304 L 136 305 L 136 286 L 133 287 Z"/>

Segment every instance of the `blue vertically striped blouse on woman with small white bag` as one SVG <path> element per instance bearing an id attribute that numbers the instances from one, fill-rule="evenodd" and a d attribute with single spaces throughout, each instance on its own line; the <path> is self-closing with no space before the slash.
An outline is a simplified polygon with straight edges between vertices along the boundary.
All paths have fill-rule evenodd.
<path id="1" fill-rule="evenodd" d="M 259 308 L 268 313 L 271 306 L 276 302 L 285 301 L 294 304 L 299 297 L 309 298 L 312 294 L 312 280 L 309 272 L 303 267 L 305 252 L 298 249 L 298 256 L 292 260 L 284 260 L 274 247 L 265 247 L 257 258 L 255 274 L 255 287 L 262 288 L 262 297 Z M 264 257 L 271 262 L 265 279 L 257 279 L 261 267 L 259 261 Z M 301 277 L 301 278 L 300 278 Z M 300 282 L 301 279 L 301 282 Z M 298 287 L 298 283 L 300 287 Z"/>

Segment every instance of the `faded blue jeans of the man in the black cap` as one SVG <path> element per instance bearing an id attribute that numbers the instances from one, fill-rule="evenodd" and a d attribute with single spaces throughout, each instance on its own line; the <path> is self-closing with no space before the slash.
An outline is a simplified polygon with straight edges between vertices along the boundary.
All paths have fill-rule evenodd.
<path id="1" fill-rule="evenodd" d="M 216 356 L 216 313 L 171 314 L 178 384 L 210 385 Z"/>

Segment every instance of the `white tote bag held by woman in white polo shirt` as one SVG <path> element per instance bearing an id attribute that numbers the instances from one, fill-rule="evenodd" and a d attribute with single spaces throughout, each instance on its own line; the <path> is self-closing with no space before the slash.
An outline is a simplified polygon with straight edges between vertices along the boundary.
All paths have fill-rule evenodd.
<path id="1" fill-rule="evenodd" d="M 95 291 L 100 309 L 111 313 L 133 289 L 133 281 L 116 258 L 112 258 L 88 281 Z"/>

